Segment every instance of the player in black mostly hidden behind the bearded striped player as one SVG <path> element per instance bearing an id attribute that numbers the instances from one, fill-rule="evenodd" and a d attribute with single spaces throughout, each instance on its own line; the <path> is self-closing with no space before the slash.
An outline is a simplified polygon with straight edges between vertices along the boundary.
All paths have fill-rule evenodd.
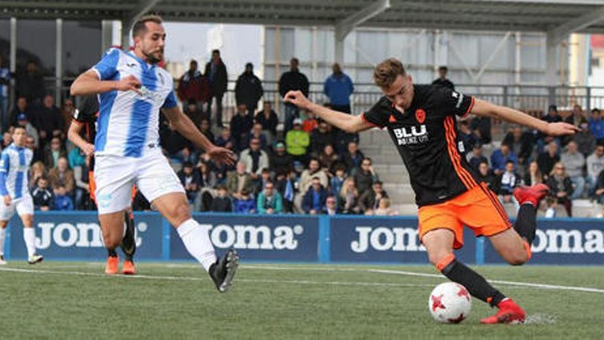
<path id="1" fill-rule="evenodd" d="M 78 109 L 73 113 L 71 126 L 67 137 L 69 140 L 78 146 L 85 154 L 90 157 L 90 172 L 89 172 L 89 187 L 90 197 L 96 203 L 95 199 L 95 181 L 94 181 L 94 140 L 96 137 L 96 122 L 99 112 L 99 102 L 96 95 L 88 95 L 83 98 Z M 83 137 L 82 137 L 83 135 Z M 136 268 L 134 264 L 134 256 L 137 251 L 137 243 L 135 240 L 135 221 L 132 211 L 125 212 L 124 218 L 126 223 L 126 234 L 121 240 L 121 250 L 124 251 L 124 265 L 122 273 L 134 275 Z M 105 273 L 108 275 L 117 274 L 119 258 L 115 249 L 107 249 L 108 258 L 105 266 Z"/>

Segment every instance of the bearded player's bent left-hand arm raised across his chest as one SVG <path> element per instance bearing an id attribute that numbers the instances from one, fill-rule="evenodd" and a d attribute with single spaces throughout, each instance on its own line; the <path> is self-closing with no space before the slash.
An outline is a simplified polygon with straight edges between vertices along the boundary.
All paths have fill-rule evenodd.
<path id="1" fill-rule="evenodd" d="M 108 91 L 136 91 L 141 93 L 141 81 L 135 76 L 127 76 L 121 80 L 100 80 L 93 69 L 80 74 L 71 84 L 71 95 L 95 95 Z"/>

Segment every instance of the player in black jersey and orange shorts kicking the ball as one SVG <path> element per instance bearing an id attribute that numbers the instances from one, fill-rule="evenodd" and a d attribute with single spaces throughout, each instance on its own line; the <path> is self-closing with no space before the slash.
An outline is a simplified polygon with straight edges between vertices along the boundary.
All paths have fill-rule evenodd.
<path id="1" fill-rule="evenodd" d="M 467 288 L 472 296 L 499 308 L 482 319 L 485 324 L 524 321 L 520 306 L 493 288 L 484 277 L 455 259 L 463 246 L 463 225 L 476 236 L 488 237 L 510 264 L 531 258 L 537 227 L 537 205 L 547 194 L 546 185 L 515 190 L 521 207 L 511 225 L 497 197 L 465 159 L 456 117 L 469 113 L 529 126 L 547 135 L 568 135 L 571 124 L 547 123 L 520 111 L 491 104 L 438 85 L 414 85 L 402 63 L 390 58 L 373 72 L 384 97 L 369 111 L 353 116 L 310 102 L 300 91 L 290 91 L 285 101 L 311 111 L 329 124 L 356 133 L 387 128 L 409 172 L 419 206 L 419 238 L 430 262 L 443 275 Z"/>

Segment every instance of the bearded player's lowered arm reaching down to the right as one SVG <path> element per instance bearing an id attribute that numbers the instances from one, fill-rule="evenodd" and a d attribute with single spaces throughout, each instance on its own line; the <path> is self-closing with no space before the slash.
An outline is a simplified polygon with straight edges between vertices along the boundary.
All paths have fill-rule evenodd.
<path id="1" fill-rule="evenodd" d="M 162 109 L 162 111 L 178 133 L 181 133 L 183 137 L 189 139 L 189 141 L 192 141 L 196 146 L 205 150 L 205 152 L 207 152 L 207 154 L 215 161 L 229 165 L 235 163 L 233 151 L 212 144 L 212 142 L 199 131 L 191 119 L 187 117 L 178 106 L 171 107 L 170 109 Z"/>

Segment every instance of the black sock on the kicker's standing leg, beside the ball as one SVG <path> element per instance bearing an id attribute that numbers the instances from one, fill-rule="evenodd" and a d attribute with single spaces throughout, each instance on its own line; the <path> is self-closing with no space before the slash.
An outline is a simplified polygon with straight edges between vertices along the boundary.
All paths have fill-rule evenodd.
<path id="1" fill-rule="evenodd" d="M 453 260 L 447 267 L 443 268 L 441 273 L 449 280 L 465 286 L 470 295 L 487 302 L 491 307 L 497 306 L 502 299 L 505 299 L 505 295 L 493 288 L 485 280 L 485 277 L 480 276 L 476 271 L 457 260 Z"/>

